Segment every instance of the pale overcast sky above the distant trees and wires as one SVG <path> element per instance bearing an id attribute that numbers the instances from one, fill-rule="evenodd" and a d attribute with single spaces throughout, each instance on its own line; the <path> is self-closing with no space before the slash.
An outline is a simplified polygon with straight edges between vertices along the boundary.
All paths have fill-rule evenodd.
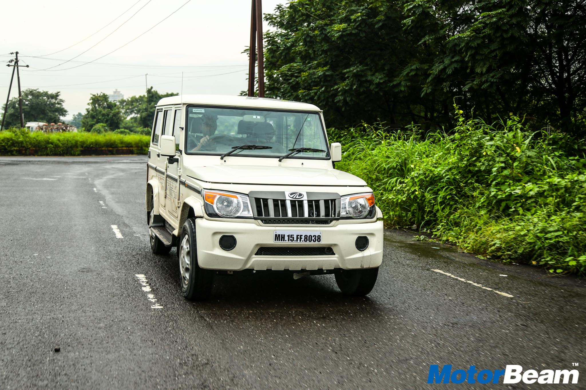
<path id="1" fill-rule="evenodd" d="M 66 119 L 85 112 L 90 94 L 111 94 L 117 88 L 125 97 L 144 95 L 147 73 L 148 86 L 159 92 L 179 93 L 182 71 L 183 94 L 237 95 L 247 89 L 247 56 L 241 51 L 250 44 L 251 1 L 190 0 L 185 4 L 186 1 L 2 1 L 0 64 L 12 57 L 8 53 L 18 51 L 21 65 L 30 65 L 20 69 L 21 88 L 60 91 L 68 111 Z M 287 2 L 263 0 L 263 13 Z M 183 8 L 169 16 L 183 4 Z M 151 31 L 128 43 L 159 22 Z M 263 28 L 269 27 L 264 23 Z M 91 37 L 86 39 L 88 36 Z M 40 56 L 43 58 L 35 58 Z M 92 60 L 96 62 L 77 67 Z M 0 66 L 2 109 L 11 72 L 12 68 Z M 16 76 L 13 96 L 18 96 Z M 35 120 L 25 118 L 25 121 Z"/>

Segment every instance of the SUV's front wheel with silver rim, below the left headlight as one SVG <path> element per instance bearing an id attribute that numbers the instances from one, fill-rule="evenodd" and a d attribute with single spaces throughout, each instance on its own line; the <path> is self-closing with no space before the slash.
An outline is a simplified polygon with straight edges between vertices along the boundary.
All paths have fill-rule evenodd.
<path id="1" fill-rule="evenodd" d="M 195 219 L 188 218 L 185 221 L 178 248 L 183 296 L 190 301 L 202 301 L 209 298 L 214 287 L 214 271 L 199 268 L 199 264 L 197 264 Z"/>

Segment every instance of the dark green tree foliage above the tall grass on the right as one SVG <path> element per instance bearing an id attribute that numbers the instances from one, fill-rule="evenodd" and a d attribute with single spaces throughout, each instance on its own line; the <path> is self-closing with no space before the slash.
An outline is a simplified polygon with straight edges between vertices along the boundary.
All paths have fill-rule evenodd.
<path id="1" fill-rule="evenodd" d="M 586 0 L 297 0 L 265 15 L 267 94 L 334 126 L 527 113 L 584 132 Z M 583 133 L 582 133 L 583 134 Z"/>

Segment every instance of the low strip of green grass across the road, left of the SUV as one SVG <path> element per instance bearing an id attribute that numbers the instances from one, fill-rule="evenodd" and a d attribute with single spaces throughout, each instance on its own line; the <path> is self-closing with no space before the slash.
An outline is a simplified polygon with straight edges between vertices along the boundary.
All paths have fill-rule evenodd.
<path id="1" fill-rule="evenodd" d="M 147 154 L 149 137 L 139 134 L 115 133 L 30 133 L 25 129 L 0 132 L 2 156 L 79 156 L 82 150 L 131 148 Z"/>

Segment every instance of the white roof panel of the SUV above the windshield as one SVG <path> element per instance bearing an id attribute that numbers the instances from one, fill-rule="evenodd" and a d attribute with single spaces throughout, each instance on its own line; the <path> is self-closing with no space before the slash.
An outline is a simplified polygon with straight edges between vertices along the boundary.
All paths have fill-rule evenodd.
<path id="1" fill-rule="evenodd" d="M 317 106 L 309 103 L 294 102 L 281 99 L 257 98 L 254 96 L 229 95 L 177 95 L 162 98 L 158 106 L 175 104 L 201 104 L 210 106 L 231 106 L 250 108 L 272 108 L 297 111 L 321 111 Z"/>

